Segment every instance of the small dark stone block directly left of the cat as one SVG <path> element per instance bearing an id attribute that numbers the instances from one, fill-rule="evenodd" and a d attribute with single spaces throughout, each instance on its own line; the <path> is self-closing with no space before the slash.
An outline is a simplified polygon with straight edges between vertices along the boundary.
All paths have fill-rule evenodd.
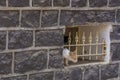
<path id="1" fill-rule="evenodd" d="M 63 68 L 62 49 L 52 49 L 49 51 L 49 68 Z"/>

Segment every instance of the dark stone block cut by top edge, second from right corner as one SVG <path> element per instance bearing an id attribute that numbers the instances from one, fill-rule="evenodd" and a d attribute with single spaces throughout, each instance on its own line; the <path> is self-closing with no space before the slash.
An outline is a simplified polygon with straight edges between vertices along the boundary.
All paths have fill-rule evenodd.
<path id="1" fill-rule="evenodd" d="M 107 0 L 89 0 L 90 7 L 104 7 L 107 6 Z"/>

